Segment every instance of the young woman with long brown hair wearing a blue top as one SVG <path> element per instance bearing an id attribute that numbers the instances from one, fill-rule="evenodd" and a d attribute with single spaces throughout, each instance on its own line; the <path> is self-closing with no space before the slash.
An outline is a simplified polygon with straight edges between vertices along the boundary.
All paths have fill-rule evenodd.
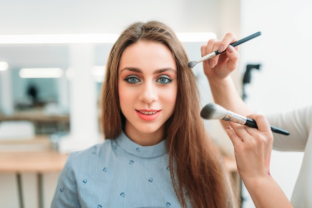
<path id="1" fill-rule="evenodd" d="M 233 70 L 237 61 L 233 51 L 224 63 Z M 135 22 L 125 29 L 102 88 L 106 140 L 69 155 L 52 208 L 236 207 L 187 63 L 165 24 Z"/>

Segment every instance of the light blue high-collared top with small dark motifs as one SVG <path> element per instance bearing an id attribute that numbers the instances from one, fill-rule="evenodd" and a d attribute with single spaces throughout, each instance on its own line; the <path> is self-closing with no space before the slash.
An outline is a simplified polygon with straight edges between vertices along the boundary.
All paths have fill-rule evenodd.
<path id="1" fill-rule="evenodd" d="M 141 146 L 124 132 L 72 152 L 51 208 L 177 208 L 165 141 Z"/>

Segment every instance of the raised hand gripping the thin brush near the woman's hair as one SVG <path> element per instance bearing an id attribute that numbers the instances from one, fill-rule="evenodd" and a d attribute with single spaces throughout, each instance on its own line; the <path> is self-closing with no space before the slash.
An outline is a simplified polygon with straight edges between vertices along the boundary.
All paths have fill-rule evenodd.
<path id="1" fill-rule="evenodd" d="M 203 62 L 204 73 L 208 80 L 222 80 L 226 78 L 238 65 L 239 53 L 238 47 L 230 44 L 235 42 L 236 38 L 232 33 L 227 33 L 223 40 L 210 39 L 207 44 L 201 46 L 201 56 L 218 50 L 226 50 L 217 56 L 214 56 Z"/>

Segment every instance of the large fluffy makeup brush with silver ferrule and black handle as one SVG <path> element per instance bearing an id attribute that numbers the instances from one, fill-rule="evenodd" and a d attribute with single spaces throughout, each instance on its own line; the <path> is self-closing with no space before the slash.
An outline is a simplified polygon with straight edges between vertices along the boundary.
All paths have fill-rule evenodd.
<path id="1" fill-rule="evenodd" d="M 200 116 L 205 119 L 222 119 L 235 123 L 240 123 L 253 128 L 258 128 L 257 123 L 254 119 L 239 115 L 235 112 L 225 109 L 224 107 L 218 104 L 213 103 L 206 104 L 201 109 Z M 275 126 L 271 126 L 271 130 L 272 132 L 275 133 L 289 135 L 288 131 Z"/>

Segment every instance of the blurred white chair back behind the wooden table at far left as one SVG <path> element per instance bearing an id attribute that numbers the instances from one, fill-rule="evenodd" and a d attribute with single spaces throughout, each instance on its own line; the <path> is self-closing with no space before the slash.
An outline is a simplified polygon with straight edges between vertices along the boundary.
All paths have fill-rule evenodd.
<path id="1" fill-rule="evenodd" d="M 0 122 L 0 139 L 30 139 L 35 127 L 28 120 L 5 120 Z"/>

